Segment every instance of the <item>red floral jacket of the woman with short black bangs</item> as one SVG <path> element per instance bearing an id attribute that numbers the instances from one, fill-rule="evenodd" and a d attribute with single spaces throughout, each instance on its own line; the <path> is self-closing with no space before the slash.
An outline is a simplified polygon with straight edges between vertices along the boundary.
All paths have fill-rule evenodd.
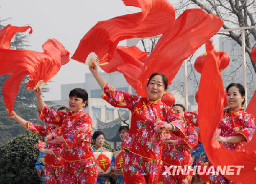
<path id="1" fill-rule="evenodd" d="M 82 110 L 77 112 L 57 112 L 47 105 L 42 108 L 39 118 L 61 127 L 63 148 L 53 149 L 54 154 L 69 162 L 93 157 L 91 147 L 92 120 Z"/>

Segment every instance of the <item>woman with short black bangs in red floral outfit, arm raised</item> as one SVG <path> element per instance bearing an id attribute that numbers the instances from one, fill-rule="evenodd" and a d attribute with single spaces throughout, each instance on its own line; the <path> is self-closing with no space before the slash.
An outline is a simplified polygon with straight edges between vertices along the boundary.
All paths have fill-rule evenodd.
<path id="1" fill-rule="evenodd" d="M 41 88 L 35 90 L 39 118 L 61 127 L 61 136 L 48 142 L 63 143 L 62 149 L 47 152 L 65 160 L 61 183 L 96 183 L 97 168 L 91 147 L 92 120 L 89 114 L 83 112 L 83 107 L 88 102 L 86 90 L 75 88 L 70 91 L 70 112 L 50 109 L 42 100 L 41 94 Z"/>

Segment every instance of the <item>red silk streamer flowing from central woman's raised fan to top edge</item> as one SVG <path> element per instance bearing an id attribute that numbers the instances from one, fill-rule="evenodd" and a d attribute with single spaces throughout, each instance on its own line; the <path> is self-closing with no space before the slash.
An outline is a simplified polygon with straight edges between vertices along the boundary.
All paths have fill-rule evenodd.
<path id="1" fill-rule="evenodd" d="M 99 65 L 109 63 L 119 41 L 143 38 L 169 31 L 175 23 L 175 10 L 167 0 L 123 0 L 126 6 L 141 12 L 99 21 L 81 39 L 72 59 L 85 62 L 91 52 L 97 54 Z"/>

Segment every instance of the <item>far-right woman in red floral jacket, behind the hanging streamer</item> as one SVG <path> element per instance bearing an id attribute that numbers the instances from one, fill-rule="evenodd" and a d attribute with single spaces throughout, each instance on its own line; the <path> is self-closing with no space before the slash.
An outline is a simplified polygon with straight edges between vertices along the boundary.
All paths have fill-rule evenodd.
<path id="1" fill-rule="evenodd" d="M 220 134 L 215 137 L 222 146 L 229 150 L 244 151 L 245 144 L 252 139 L 255 131 L 254 118 L 244 111 L 245 90 L 239 83 L 231 83 L 227 86 L 228 109 L 224 110 L 224 116 L 219 124 Z M 209 167 L 211 163 L 209 162 Z M 222 174 L 212 175 L 209 173 L 210 183 L 234 184 Z"/>

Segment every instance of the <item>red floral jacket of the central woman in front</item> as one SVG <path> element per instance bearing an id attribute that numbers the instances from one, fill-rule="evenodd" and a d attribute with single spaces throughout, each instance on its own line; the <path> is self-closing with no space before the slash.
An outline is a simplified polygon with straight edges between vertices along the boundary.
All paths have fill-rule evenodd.
<path id="1" fill-rule="evenodd" d="M 185 133 L 185 124 L 179 114 L 159 100 L 151 100 L 124 93 L 109 83 L 103 88 L 102 98 L 114 107 L 127 108 L 132 112 L 131 128 L 121 147 L 150 159 L 161 158 L 160 133 L 154 130 L 159 120 L 172 123 Z"/>

